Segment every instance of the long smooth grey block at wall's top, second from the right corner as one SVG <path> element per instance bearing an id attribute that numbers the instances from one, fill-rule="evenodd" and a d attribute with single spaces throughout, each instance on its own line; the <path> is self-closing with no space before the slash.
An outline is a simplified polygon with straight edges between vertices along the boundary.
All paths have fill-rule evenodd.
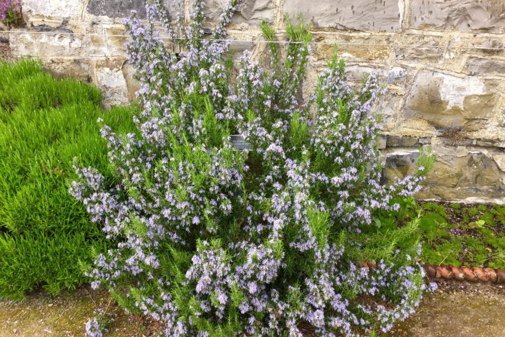
<path id="1" fill-rule="evenodd" d="M 401 29 L 403 1 L 400 0 L 285 0 L 284 13 L 293 20 L 301 13 L 316 27 L 395 31 Z"/>

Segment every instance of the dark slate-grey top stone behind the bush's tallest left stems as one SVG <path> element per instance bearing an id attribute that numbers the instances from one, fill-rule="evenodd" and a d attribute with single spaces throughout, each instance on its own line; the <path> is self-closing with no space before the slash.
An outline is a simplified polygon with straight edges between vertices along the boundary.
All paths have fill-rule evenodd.
<path id="1" fill-rule="evenodd" d="M 184 14 L 184 0 L 163 0 L 163 6 L 170 17 Z M 89 0 L 86 9 L 89 14 L 110 18 L 127 18 L 137 11 L 139 18 L 146 18 L 145 0 Z"/>

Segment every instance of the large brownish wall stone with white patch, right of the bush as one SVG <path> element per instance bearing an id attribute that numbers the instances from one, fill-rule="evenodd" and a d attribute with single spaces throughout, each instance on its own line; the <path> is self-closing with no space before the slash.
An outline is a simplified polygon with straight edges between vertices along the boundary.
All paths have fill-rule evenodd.
<path id="1" fill-rule="evenodd" d="M 462 127 L 473 120 L 485 123 L 497 102 L 494 81 L 423 71 L 407 99 L 404 116 L 422 118 L 437 128 Z"/>

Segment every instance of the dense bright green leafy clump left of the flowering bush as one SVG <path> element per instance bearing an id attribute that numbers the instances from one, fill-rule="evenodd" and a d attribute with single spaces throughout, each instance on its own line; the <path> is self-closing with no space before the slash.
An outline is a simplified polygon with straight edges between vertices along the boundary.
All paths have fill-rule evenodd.
<path id="1" fill-rule="evenodd" d="M 102 113 L 99 103 L 96 88 L 55 80 L 38 61 L 0 63 L 0 297 L 73 289 L 86 281 L 79 260 L 106 250 L 105 234 L 67 187 L 76 156 L 112 179 L 96 119 L 122 129 L 131 114 Z"/>

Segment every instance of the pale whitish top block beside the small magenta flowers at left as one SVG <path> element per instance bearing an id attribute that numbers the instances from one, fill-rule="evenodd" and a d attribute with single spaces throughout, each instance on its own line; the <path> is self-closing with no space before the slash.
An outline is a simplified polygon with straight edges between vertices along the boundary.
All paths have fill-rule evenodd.
<path id="1" fill-rule="evenodd" d="M 80 0 L 23 0 L 23 12 L 58 18 L 75 18 L 81 14 Z"/>

